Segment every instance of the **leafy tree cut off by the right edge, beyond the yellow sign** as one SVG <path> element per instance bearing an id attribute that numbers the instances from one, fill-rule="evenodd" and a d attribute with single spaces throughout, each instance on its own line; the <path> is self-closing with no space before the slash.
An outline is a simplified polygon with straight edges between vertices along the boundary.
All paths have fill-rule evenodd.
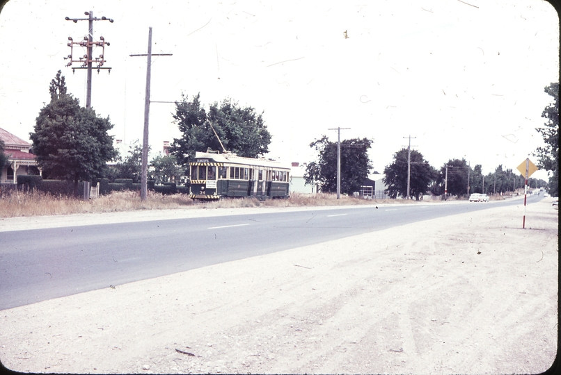
<path id="1" fill-rule="evenodd" d="M 536 128 L 542 134 L 546 145 L 538 147 L 534 153 L 538 158 L 538 167 L 553 172 L 549 178 L 549 192 L 553 196 L 559 194 L 559 83 L 551 83 L 544 91 L 553 97 L 542 113 L 546 119 L 544 127 Z"/>

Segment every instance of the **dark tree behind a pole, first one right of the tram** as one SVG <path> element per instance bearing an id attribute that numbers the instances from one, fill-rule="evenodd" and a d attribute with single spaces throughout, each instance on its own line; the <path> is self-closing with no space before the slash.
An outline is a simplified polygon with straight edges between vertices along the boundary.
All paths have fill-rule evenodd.
<path id="1" fill-rule="evenodd" d="M 352 194 L 361 190 L 361 185 L 372 169 L 368 149 L 372 141 L 354 138 L 341 141 L 341 192 Z M 326 135 L 310 143 L 319 153 L 317 162 L 309 163 L 304 179 L 306 184 L 317 183 L 322 192 L 337 191 L 337 142 L 330 142 Z"/>

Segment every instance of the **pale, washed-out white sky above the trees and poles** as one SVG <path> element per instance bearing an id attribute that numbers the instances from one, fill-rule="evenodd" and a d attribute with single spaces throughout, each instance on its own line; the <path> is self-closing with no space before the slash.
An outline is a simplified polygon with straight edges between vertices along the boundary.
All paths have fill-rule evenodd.
<path id="1" fill-rule="evenodd" d="M 200 93 L 263 113 L 269 157 L 309 163 L 310 143 L 369 138 L 384 172 L 409 144 L 439 169 L 464 158 L 484 174 L 543 146 L 535 128 L 559 81 L 558 14 L 542 0 L 133 1 L 10 0 L 0 12 L 0 127 L 29 141 L 61 70 L 86 105 L 86 71 L 65 67 L 68 37 L 88 22 L 105 47 L 92 107 L 123 142 L 142 142 L 148 30 L 153 56 L 150 145 L 179 138 L 173 103 Z M 74 47 L 74 56 L 85 53 Z M 100 48 L 93 55 L 99 56 Z M 78 67 L 74 63 L 74 67 Z M 373 172 L 373 171 L 372 171 Z M 547 179 L 545 171 L 532 177 Z"/>

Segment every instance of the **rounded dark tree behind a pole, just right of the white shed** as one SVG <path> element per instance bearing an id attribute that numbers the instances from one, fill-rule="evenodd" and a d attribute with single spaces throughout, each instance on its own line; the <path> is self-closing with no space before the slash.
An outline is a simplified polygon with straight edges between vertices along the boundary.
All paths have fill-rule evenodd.
<path id="1" fill-rule="evenodd" d="M 408 149 L 401 149 L 393 154 L 393 163 L 384 169 L 382 181 L 388 186 L 386 194 L 392 198 L 407 196 Z M 410 197 L 419 200 L 436 178 L 436 170 L 423 158 L 422 153 L 411 150 Z"/>

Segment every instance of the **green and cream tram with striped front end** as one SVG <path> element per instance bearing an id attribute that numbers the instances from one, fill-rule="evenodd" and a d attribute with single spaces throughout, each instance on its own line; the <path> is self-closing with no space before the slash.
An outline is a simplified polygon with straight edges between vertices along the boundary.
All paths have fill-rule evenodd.
<path id="1" fill-rule="evenodd" d="M 290 165 L 270 159 L 242 158 L 230 152 L 196 152 L 189 172 L 192 199 L 290 196 Z"/>

